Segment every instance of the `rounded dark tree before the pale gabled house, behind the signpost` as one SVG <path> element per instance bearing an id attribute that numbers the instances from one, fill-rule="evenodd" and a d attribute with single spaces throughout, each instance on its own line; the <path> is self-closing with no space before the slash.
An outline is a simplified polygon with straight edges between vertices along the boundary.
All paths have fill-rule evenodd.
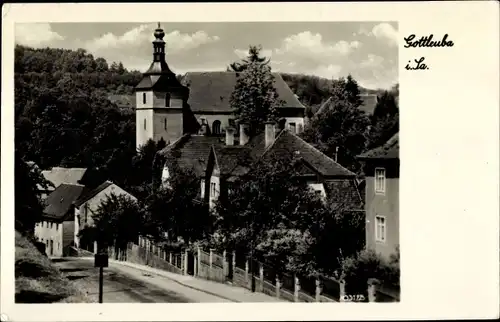
<path id="1" fill-rule="evenodd" d="M 128 195 L 109 195 L 101 202 L 93 218 L 100 249 L 109 246 L 124 249 L 144 230 L 142 207 Z"/>

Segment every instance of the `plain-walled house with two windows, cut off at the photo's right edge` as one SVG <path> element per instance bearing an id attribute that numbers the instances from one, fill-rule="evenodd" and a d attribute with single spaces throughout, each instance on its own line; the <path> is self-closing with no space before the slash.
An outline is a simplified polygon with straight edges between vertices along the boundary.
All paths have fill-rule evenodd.
<path id="1" fill-rule="evenodd" d="M 399 247 L 399 133 L 359 159 L 365 162 L 366 247 L 389 258 Z"/>

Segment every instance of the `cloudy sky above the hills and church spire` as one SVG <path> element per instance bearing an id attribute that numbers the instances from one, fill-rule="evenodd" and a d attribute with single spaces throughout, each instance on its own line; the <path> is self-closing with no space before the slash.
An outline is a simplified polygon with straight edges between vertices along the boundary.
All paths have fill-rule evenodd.
<path id="1" fill-rule="evenodd" d="M 109 64 L 145 71 L 152 61 L 157 22 L 18 23 L 16 44 L 83 48 Z M 366 88 L 398 82 L 397 23 L 394 22 L 160 22 L 172 71 L 220 71 L 261 45 L 276 72 L 325 78 L 351 74 Z"/>

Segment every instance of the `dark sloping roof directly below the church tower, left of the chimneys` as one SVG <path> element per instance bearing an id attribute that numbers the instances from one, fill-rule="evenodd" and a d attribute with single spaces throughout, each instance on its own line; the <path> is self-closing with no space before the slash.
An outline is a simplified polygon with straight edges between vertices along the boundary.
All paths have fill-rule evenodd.
<path id="1" fill-rule="evenodd" d="M 158 154 L 167 158 L 172 156 L 179 167 L 192 169 L 196 176 L 201 177 L 205 173 L 211 146 L 224 144 L 220 137 L 185 134 Z"/>

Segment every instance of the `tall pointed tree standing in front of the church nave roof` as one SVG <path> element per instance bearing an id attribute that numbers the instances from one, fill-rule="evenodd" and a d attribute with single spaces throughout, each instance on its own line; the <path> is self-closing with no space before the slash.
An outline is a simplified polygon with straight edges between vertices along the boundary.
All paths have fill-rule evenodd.
<path id="1" fill-rule="evenodd" d="M 261 132 L 264 122 L 276 121 L 277 108 L 284 104 L 274 87 L 271 68 L 256 62 L 237 76 L 230 102 L 237 120 L 250 125 L 250 135 Z"/>

